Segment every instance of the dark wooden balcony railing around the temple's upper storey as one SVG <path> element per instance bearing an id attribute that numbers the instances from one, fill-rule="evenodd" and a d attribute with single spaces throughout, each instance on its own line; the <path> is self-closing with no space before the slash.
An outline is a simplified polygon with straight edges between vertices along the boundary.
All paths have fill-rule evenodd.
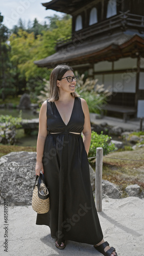
<path id="1" fill-rule="evenodd" d="M 103 22 L 99 22 L 79 30 L 71 36 L 59 39 L 57 41 L 57 50 L 65 45 L 69 45 L 73 41 L 85 40 L 86 38 L 90 38 L 104 32 L 112 32 L 117 28 L 121 28 L 122 30 L 135 28 L 138 29 L 139 32 L 144 32 L 144 16 L 131 14 L 129 11 L 124 13 L 120 12 L 120 14 L 110 17 Z"/>

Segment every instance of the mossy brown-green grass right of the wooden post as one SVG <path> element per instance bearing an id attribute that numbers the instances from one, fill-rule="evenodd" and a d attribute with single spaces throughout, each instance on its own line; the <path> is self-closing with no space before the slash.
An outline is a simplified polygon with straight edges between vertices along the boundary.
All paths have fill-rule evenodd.
<path id="1" fill-rule="evenodd" d="M 138 148 L 135 151 L 113 152 L 107 157 L 144 160 L 144 148 Z M 92 167 L 95 168 L 94 161 Z M 124 190 L 128 185 L 138 184 L 141 189 L 144 189 L 144 162 L 104 157 L 103 179 L 118 185 L 123 192 L 123 197 L 125 196 Z"/>

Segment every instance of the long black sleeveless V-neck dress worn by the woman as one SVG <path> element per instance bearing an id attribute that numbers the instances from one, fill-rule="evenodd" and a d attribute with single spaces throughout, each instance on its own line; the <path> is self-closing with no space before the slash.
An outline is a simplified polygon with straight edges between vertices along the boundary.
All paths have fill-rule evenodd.
<path id="1" fill-rule="evenodd" d="M 103 233 L 92 194 L 87 153 L 81 134 L 70 133 L 83 131 L 81 99 L 75 98 L 67 125 L 54 102 L 47 101 L 46 115 L 49 134 L 42 162 L 49 186 L 50 210 L 37 214 L 36 224 L 48 225 L 58 244 L 63 240 L 98 244 Z"/>

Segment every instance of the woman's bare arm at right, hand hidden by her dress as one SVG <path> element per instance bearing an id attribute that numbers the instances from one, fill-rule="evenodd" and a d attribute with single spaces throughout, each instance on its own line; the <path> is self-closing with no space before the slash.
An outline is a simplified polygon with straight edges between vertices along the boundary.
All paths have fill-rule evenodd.
<path id="1" fill-rule="evenodd" d="M 82 109 L 85 115 L 85 122 L 84 122 L 84 129 L 83 129 L 83 142 L 85 146 L 85 150 L 88 155 L 90 141 L 91 141 L 91 126 L 90 126 L 90 117 L 89 117 L 89 110 L 88 105 L 84 99 L 81 98 Z"/>

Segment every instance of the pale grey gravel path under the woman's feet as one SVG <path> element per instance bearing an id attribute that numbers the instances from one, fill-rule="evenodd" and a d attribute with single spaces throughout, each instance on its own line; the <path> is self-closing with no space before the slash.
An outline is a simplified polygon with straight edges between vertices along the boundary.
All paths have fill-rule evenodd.
<path id="1" fill-rule="evenodd" d="M 99 212 L 104 238 L 116 248 L 118 256 L 142 256 L 144 241 L 144 200 L 103 199 Z M 8 223 L 4 223 L 4 205 L 0 205 L 0 255 L 8 256 L 92 256 L 102 255 L 92 245 L 67 241 L 64 250 L 55 247 L 50 228 L 35 225 L 36 212 L 31 206 L 8 206 Z M 7 230 L 8 226 L 8 230 Z M 8 234 L 8 252 L 4 251 Z M 6 241 L 7 243 L 7 241 Z"/>

